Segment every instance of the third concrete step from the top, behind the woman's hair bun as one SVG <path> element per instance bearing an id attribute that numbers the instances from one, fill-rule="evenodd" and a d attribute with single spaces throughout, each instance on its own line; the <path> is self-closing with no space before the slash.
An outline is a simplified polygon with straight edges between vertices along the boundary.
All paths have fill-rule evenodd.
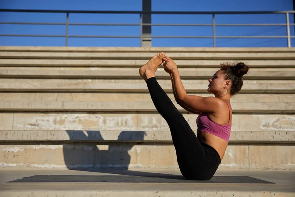
<path id="1" fill-rule="evenodd" d="M 210 79 L 216 68 L 181 68 L 181 79 Z M 170 79 L 162 67 L 158 79 Z M 77 68 L 77 67 L 0 67 L 1 78 L 61 78 L 61 79 L 141 79 L 138 68 Z M 295 80 L 295 68 L 251 68 L 244 79 Z"/>

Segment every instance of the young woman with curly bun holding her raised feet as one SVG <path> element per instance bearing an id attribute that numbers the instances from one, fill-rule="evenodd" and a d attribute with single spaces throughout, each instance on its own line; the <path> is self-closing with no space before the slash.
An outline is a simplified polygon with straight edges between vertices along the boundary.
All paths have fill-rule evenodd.
<path id="1" fill-rule="evenodd" d="M 155 78 L 156 70 L 162 63 L 164 70 L 170 74 L 177 104 L 189 112 L 199 114 L 197 136 Z M 248 69 L 244 63 L 234 66 L 222 64 L 221 69 L 208 80 L 207 91 L 215 97 L 187 95 L 176 63 L 163 52 L 139 69 L 156 109 L 168 123 L 179 169 L 186 179 L 209 180 L 215 174 L 230 138 L 230 98 L 240 91 L 242 77 Z"/>

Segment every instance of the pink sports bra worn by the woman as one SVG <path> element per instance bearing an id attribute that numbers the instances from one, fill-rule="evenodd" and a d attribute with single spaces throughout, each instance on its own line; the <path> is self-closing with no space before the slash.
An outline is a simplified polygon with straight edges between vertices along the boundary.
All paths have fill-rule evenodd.
<path id="1" fill-rule="evenodd" d="M 228 105 L 229 115 L 231 117 L 229 104 L 226 104 Z M 230 118 L 228 124 L 220 125 L 210 120 L 206 113 L 200 113 L 196 122 L 198 130 L 220 137 L 227 142 L 229 141 L 231 133 Z"/>

